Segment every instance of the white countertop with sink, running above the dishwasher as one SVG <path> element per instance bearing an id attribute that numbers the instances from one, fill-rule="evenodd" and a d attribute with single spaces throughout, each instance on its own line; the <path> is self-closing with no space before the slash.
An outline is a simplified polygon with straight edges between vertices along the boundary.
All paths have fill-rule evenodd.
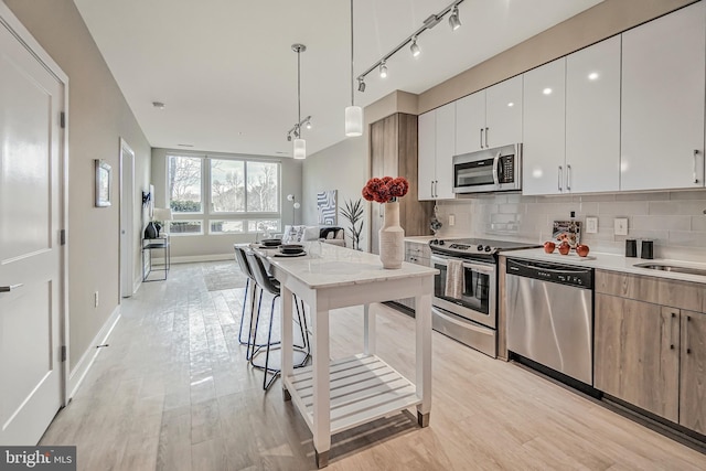
<path id="1" fill-rule="evenodd" d="M 678 267 L 696 268 L 706 270 L 706 264 L 673 260 L 666 258 L 655 258 L 652 260 L 644 258 L 625 257 L 616 254 L 589 253 L 588 257 L 582 258 L 571 253 L 569 255 L 560 255 L 558 249 L 553 254 L 546 254 L 544 248 L 532 248 L 526 250 L 513 250 L 501 253 L 507 258 L 520 258 L 525 260 L 550 261 L 555 264 L 575 265 L 581 267 L 597 268 L 602 270 L 622 271 L 633 275 L 651 276 L 659 278 L 667 278 L 672 280 L 693 281 L 706 285 L 706 276 L 680 274 L 676 271 L 652 270 L 649 268 L 635 267 L 640 264 L 654 265 L 674 265 Z"/>

